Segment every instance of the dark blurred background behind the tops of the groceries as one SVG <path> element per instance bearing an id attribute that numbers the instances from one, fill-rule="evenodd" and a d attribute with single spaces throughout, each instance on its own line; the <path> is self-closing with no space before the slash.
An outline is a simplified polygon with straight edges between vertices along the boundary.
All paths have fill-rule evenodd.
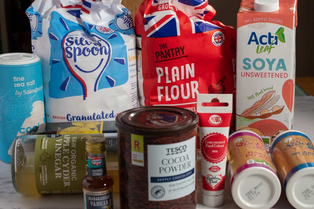
<path id="1" fill-rule="evenodd" d="M 142 1 L 122 0 L 122 4 L 135 14 Z M 32 2 L 32 0 L 0 0 L 1 53 L 31 53 L 30 23 L 25 15 L 25 10 Z M 235 28 L 240 2 L 241 0 L 208 0 L 208 3 L 217 11 L 214 20 L 219 20 L 225 25 Z M 314 0 L 299 0 L 296 39 L 297 77 L 314 77 L 313 21 Z M 314 78 L 311 81 L 314 83 Z"/>

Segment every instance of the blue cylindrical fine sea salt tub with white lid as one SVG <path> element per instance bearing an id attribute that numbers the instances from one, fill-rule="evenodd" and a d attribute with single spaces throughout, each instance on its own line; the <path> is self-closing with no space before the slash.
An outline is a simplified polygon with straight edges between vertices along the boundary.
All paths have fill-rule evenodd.
<path id="1" fill-rule="evenodd" d="M 27 53 L 0 55 L 0 159 L 11 162 L 17 136 L 45 123 L 41 60 Z"/>

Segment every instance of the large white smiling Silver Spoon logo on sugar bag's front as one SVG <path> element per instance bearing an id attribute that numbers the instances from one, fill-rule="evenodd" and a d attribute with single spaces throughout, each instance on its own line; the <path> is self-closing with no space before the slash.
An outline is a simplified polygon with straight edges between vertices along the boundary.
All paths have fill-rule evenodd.
<path id="1" fill-rule="evenodd" d="M 106 40 L 75 30 L 62 39 L 63 59 L 68 70 L 83 88 L 84 100 L 98 90 L 98 84 L 111 59 Z"/>

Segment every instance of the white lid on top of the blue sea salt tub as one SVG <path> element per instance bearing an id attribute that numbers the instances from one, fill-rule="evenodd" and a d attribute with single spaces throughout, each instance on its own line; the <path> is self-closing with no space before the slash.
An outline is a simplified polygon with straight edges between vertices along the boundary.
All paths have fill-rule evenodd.
<path id="1" fill-rule="evenodd" d="M 29 53 L 8 53 L 0 55 L 0 65 L 28 65 L 38 62 L 37 55 Z"/>

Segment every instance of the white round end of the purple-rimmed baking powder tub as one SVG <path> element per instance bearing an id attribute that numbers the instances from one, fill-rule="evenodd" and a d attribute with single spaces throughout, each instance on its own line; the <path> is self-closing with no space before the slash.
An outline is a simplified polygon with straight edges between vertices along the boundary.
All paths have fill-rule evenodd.
<path id="1" fill-rule="evenodd" d="M 279 200 L 281 184 L 271 170 L 251 167 L 236 176 L 231 193 L 236 204 L 242 209 L 271 208 Z"/>

